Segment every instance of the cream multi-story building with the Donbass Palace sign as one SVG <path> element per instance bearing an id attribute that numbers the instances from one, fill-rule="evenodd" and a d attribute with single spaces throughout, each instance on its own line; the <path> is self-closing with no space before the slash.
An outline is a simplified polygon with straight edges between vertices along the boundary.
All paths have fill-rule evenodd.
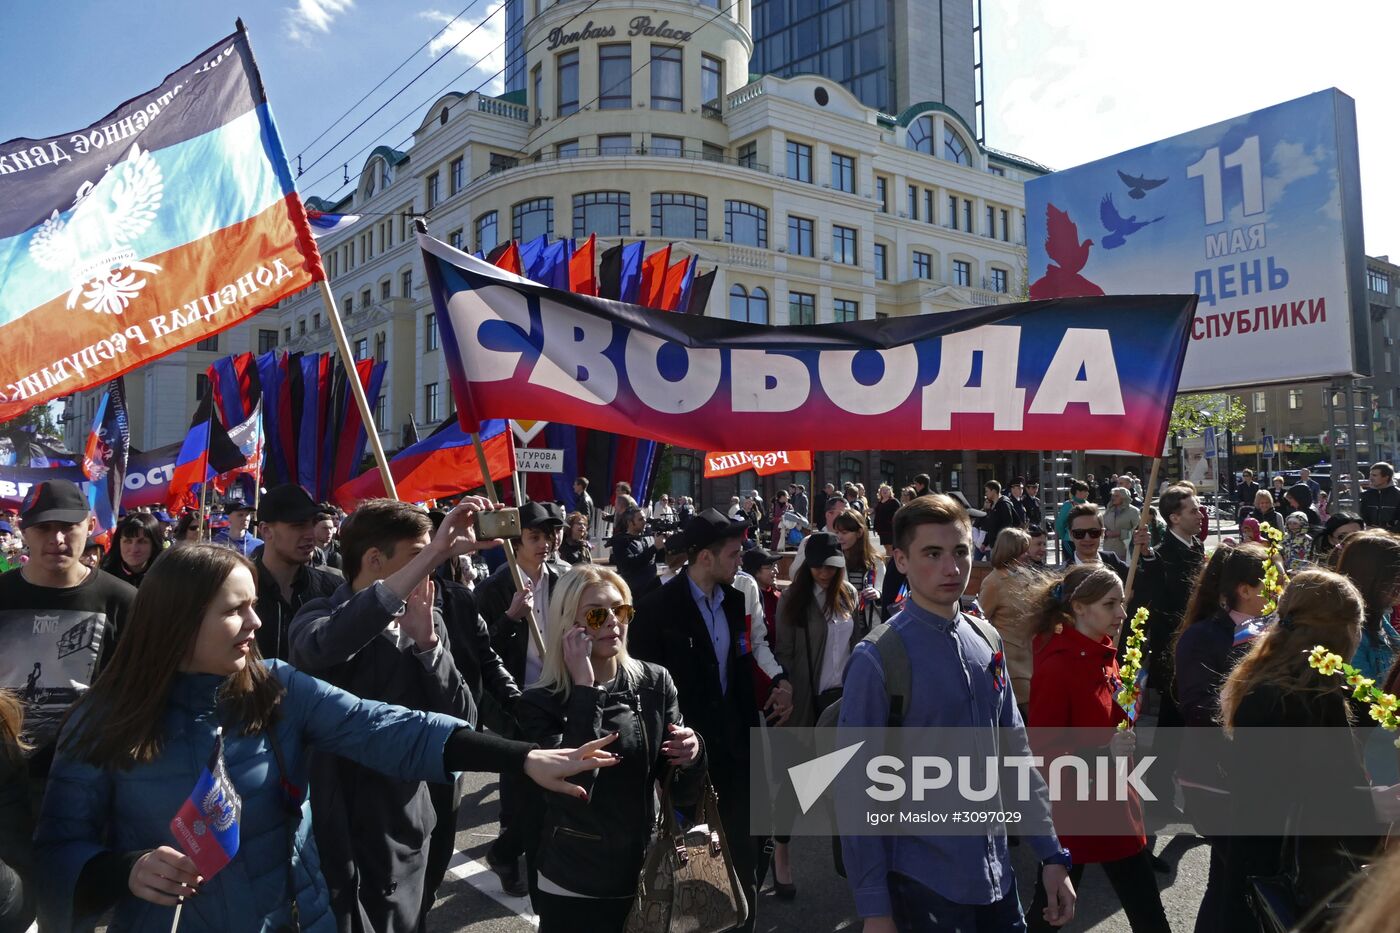
<path id="1" fill-rule="evenodd" d="M 353 353 L 391 361 L 375 413 L 386 447 L 410 420 L 452 410 L 416 217 L 468 251 L 539 234 L 596 234 L 599 248 L 671 242 L 718 269 L 708 314 L 763 324 L 930 314 L 1023 293 L 1022 184 L 1046 170 L 979 146 L 956 109 L 892 116 L 826 77 L 749 80 L 748 0 L 725 11 L 599 0 L 587 15 L 577 0 L 533 6 L 525 0 L 524 92 L 447 94 L 412 148 L 374 150 L 353 191 L 308 202 L 363 216 L 318 242 Z M 333 349 L 316 289 L 221 335 L 218 352 L 273 340 Z M 132 378 L 153 384 L 165 408 L 158 423 L 134 419 L 144 434 L 133 443 L 178 440 L 213 356 L 158 363 L 181 368 L 179 387 Z M 676 492 L 697 492 L 699 457 L 675 464 Z M 900 457 L 871 451 L 818 466 L 822 482 L 904 472 Z"/>

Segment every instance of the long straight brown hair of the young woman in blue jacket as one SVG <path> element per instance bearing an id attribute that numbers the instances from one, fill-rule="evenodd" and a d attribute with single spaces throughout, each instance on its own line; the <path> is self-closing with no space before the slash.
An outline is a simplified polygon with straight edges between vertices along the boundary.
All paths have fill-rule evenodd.
<path id="1" fill-rule="evenodd" d="M 252 562 L 223 545 L 196 542 L 161 552 L 136 591 L 112 661 L 73 706 L 76 727 L 64 740 L 71 755 L 97 768 L 120 769 L 160 756 L 175 674 L 235 567 L 256 580 Z M 244 670 L 218 688 L 225 721 L 241 724 L 245 735 L 272 726 L 281 693 L 256 643 Z"/>

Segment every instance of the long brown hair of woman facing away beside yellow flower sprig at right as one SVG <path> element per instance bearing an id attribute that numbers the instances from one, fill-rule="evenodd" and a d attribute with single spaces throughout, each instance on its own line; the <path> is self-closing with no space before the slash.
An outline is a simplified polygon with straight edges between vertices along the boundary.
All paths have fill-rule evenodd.
<path id="1" fill-rule="evenodd" d="M 1277 686 L 1289 693 L 1330 693 L 1345 688 L 1337 677 L 1324 677 L 1308 664 L 1313 646 L 1322 644 L 1344 658 L 1357 653 L 1365 604 L 1347 577 L 1331 570 L 1303 570 L 1278 601 L 1278 625 L 1254 640 L 1221 688 L 1221 724 L 1229 733 L 1235 710 L 1250 691 Z"/>

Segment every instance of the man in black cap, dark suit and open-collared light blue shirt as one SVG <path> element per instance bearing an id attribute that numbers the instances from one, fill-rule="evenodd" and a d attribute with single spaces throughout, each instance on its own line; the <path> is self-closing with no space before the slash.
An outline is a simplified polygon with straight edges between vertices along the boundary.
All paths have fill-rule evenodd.
<path id="1" fill-rule="evenodd" d="M 732 586 L 745 528 L 714 509 L 690 520 L 682 532 L 690 563 L 637 601 L 627 650 L 671 671 L 680 714 L 704 738 L 720 818 L 749 901 L 742 929 L 753 930 L 757 849 L 749 835 L 749 727 L 759 723 L 743 594 Z"/>

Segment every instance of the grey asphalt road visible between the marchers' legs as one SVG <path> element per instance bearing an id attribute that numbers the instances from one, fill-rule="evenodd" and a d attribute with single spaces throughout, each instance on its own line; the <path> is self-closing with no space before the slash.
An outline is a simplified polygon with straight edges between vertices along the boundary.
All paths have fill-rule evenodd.
<path id="1" fill-rule="evenodd" d="M 472 776 L 477 778 L 477 776 Z M 440 890 L 437 906 L 428 918 L 433 933 L 463 930 L 470 933 L 529 933 L 535 929 L 528 898 L 501 892 L 496 876 L 486 869 L 486 848 L 496 838 L 496 780 L 479 776 L 468 785 L 458 820 L 458 857 L 452 873 Z M 1029 906 L 1035 884 L 1035 857 L 1025 846 L 1014 852 L 1021 901 Z M 1205 891 L 1210 850 L 1196 836 L 1158 839 L 1156 852 L 1175 866 L 1170 874 L 1158 876 L 1162 904 L 1173 930 L 1189 933 Z M 860 930 L 846 880 L 836 874 L 832 848 L 826 839 L 792 841 L 795 901 L 773 897 L 771 881 L 759 894 L 757 930 L 760 933 L 834 933 Z M 1064 927 L 1075 932 L 1130 933 L 1127 918 L 1119 906 L 1103 871 L 1091 866 L 1079 892 L 1078 915 Z"/>

